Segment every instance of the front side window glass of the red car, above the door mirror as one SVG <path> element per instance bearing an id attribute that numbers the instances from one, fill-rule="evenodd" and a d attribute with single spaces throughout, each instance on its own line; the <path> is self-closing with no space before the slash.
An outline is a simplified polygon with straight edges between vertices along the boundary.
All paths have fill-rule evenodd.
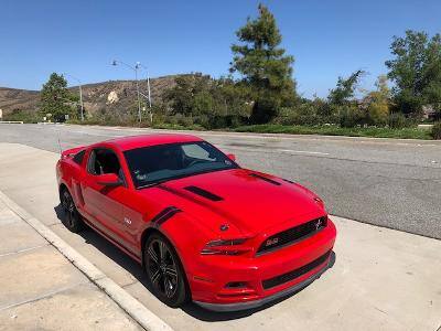
<path id="1" fill-rule="evenodd" d="M 123 180 L 118 157 L 109 149 L 98 148 L 90 152 L 87 171 L 92 174 L 115 173 Z"/>

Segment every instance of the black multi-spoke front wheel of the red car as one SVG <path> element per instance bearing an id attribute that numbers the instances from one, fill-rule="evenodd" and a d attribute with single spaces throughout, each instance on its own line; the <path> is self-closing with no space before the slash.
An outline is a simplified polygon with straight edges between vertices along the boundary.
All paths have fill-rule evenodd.
<path id="1" fill-rule="evenodd" d="M 173 246 L 154 233 L 144 246 L 144 266 L 153 293 L 170 307 L 180 307 L 187 300 L 185 274 Z"/>

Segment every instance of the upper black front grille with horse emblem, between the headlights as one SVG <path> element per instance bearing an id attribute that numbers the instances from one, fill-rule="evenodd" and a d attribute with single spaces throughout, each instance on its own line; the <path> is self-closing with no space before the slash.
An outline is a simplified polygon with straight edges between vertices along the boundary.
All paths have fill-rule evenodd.
<path id="1" fill-rule="evenodd" d="M 312 220 L 298 226 L 288 228 L 268 237 L 257 250 L 257 254 L 268 253 L 304 239 L 326 226 L 327 217 Z"/>

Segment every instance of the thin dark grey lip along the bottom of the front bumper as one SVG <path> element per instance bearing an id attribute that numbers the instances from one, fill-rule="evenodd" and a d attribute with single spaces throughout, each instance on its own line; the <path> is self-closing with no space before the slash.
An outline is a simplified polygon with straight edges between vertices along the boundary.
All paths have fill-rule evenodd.
<path id="1" fill-rule="evenodd" d="M 219 311 L 219 312 L 226 312 L 226 311 L 239 311 L 239 310 L 247 310 L 247 309 L 254 309 L 261 307 L 266 303 L 269 303 L 271 301 L 278 300 L 280 298 L 287 297 L 289 295 L 292 295 L 302 288 L 306 287 L 311 282 L 313 282 L 315 279 L 320 278 L 323 273 L 325 273 L 329 268 L 332 268 L 335 263 L 335 253 L 331 252 L 330 258 L 327 259 L 327 263 L 315 274 L 310 276 L 309 278 L 304 279 L 301 282 L 298 282 L 289 288 L 286 288 L 284 290 L 281 290 L 279 292 L 276 292 L 269 297 L 265 297 L 262 299 L 257 299 L 252 301 L 247 301 L 247 302 L 237 302 L 237 303 L 211 303 L 211 302 L 202 302 L 202 301 L 194 301 L 194 303 L 201 306 L 202 308 L 213 310 L 213 311 Z"/>

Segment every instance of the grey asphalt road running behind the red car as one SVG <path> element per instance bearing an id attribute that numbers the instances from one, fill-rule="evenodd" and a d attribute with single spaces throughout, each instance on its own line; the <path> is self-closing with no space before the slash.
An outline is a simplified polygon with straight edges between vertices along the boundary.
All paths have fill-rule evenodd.
<path id="1" fill-rule="evenodd" d="M 58 151 L 57 137 L 66 149 L 153 131 L 158 130 L 0 125 L 0 142 Z M 334 215 L 441 238 L 441 141 L 192 134 L 235 153 L 243 167 L 312 189 Z"/>

